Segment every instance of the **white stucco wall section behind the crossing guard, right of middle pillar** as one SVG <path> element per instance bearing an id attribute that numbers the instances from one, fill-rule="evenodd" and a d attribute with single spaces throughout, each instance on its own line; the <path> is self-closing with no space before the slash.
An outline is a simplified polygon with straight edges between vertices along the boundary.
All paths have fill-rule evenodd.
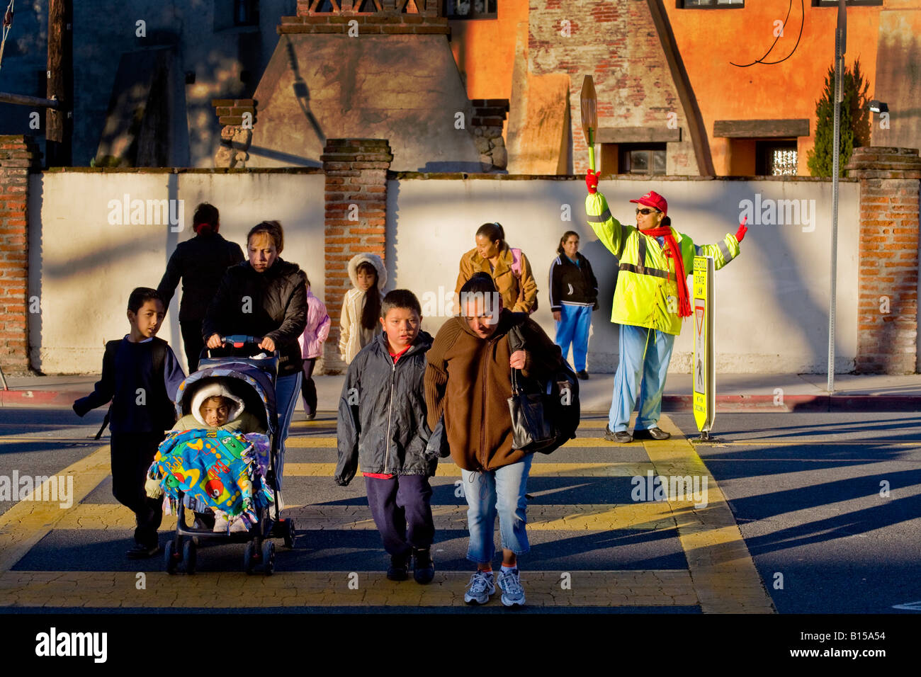
<path id="1" fill-rule="evenodd" d="M 740 202 L 810 200 L 808 225 L 754 225 L 740 257 L 717 273 L 716 349 L 721 373 L 823 372 L 827 365 L 831 271 L 829 181 L 602 181 L 612 213 L 635 224 L 628 201 L 649 190 L 669 201 L 675 228 L 698 244 L 710 244 L 738 228 Z M 408 287 L 420 300 L 453 292 L 461 253 L 473 247 L 477 228 L 499 221 L 507 241 L 520 247 L 535 269 L 540 307 L 534 319 L 554 335 L 547 274 L 568 229 L 580 234 L 580 251 L 599 279 L 600 309 L 593 314 L 589 371 L 610 372 L 617 364 L 617 325 L 611 323 L 616 260 L 585 220 L 582 181 L 403 180 L 388 191 L 388 266 L 393 285 Z M 842 182 L 838 224 L 836 369 L 850 371 L 857 354 L 858 186 Z M 563 220 L 565 205 L 571 221 Z M 752 219 L 750 219 L 752 221 Z M 437 308 L 435 309 L 437 310 Z M 449 310 L 448 310 L 449 312 Z M 435 333 L 444 317 L 429 315 Z M 690 320 L 675 342 L 671 370 L 690 373 L 694 349 Z"/>

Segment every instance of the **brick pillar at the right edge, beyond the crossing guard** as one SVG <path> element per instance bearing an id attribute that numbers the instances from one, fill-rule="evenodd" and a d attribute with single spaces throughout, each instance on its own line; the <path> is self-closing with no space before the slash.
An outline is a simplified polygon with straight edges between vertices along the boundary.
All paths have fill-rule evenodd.
<path id="1" fill-rule="evenodd" d="M 864 146 L 845 169 L 860 181 L 857 371 L 914 374 L 921 158 Z"/>

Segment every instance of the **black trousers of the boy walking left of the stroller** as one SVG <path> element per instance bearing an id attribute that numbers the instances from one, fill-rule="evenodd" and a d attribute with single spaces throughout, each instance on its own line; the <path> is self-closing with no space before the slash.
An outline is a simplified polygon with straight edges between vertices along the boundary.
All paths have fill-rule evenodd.
<path id="1" fill-rule="evenodd" d="M 112 496 L 134 511 L 134 542 L 148 547 L 157 545 L 163 499 L 148 498 L 144 483 L 164 437 L 163 433 L 111 434 Z"/>

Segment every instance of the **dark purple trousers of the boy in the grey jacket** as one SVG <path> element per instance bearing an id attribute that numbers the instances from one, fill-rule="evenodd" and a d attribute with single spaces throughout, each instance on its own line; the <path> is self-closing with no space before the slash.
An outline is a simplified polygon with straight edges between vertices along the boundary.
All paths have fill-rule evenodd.
<path id="1" fill-rule="evenodd" d="M 366 477 L 367 505 L 389 554 L 427 548 L 435 538 L 432 487 L 425 475 L 397 475 L 390 480 Z"/>

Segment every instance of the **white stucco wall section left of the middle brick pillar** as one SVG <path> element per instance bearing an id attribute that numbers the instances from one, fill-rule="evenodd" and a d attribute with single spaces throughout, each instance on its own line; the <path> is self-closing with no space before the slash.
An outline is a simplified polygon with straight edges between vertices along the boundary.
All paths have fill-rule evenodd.
<path id="1" fill-rule="evenodd" d="M 323 295 L 322 174 L 184 172 L 45 172 L 29 187 L 29 296 L 32 364 L 46 374 L 98 373 L 104 344 L 129 331 L 125 311 L 135 286 L 156 287 L 176 244 L 192 238 L 195 205 L 221 214 L 221 234 L 246 249 L 246 233 L 263 220 L 285 227 L 282 258 L 307 271 Z M 110 201 L 182 200 L 184 228 L 111 225 Z M 181 288 L 181 286 L 180 286 Z M 158 335 L 183 366 L 179 298 Z"/>

